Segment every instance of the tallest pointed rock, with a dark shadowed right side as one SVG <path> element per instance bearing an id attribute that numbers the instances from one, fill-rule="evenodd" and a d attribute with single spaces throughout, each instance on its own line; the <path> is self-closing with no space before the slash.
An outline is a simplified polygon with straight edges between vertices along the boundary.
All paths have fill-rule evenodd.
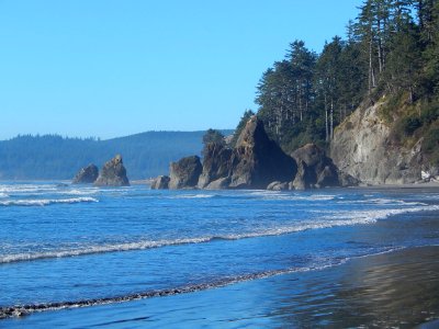
<path id="1" fill-rule="evenodd" d="M 263 123 L 254 115 L 246 124 L 230 158 L 233 189 L 266 189 L 273 181 L 291 181 L 296 163 L 271 140 Z"/>

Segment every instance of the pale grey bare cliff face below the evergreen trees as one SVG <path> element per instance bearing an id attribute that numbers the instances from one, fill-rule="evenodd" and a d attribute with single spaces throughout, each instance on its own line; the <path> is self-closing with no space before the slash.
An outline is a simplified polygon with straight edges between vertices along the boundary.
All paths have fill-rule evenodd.
<path id="1" fill-rule="evenodd" d="M 413 183 L 421 179 L 421 138 L 412 148 L 392 140 L 392 127 L 380 118 L 383 103 L 360 107 L 334 134 L 330 157 L 342 171 L 369 184 Z"/>

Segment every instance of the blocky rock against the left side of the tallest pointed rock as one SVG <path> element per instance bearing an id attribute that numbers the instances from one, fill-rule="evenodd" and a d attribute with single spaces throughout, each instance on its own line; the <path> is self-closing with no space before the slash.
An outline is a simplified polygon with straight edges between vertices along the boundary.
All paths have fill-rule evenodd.
<path id="1" fill-rule="evenodd" d="M 204 189 L 210 185 L 210 189 L 226 188 L 226 180 L 221 183 L 212 184 L 219 179 L 228 178 L 232 172 L 230 157 L 233 150 L 218 143 L 210 143 L 204 148 L 203 172 L 200 175 L 198 186 Z M 215 188 L 213 188 L 215 186 Z"/>

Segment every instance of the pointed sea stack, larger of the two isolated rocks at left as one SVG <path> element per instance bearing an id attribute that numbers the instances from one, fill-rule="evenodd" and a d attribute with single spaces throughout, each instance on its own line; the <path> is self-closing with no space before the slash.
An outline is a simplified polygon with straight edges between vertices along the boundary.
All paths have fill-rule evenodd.
<path id="1" fill-rule="evenodd" d="M 117 155 L 108 161 L 94 182 L 97 186 L 128 186 L 130 181 L 126 177 L 126 169 L 123 166 L 122 156 Z"/>

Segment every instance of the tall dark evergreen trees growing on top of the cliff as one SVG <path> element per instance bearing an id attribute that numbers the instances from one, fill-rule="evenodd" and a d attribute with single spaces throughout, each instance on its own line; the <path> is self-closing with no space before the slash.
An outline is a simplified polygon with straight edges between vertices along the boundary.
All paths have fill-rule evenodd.
<path id="1" fill-rule="evenodd" d="M 290 45 L 260 79 L 256 102 L 270 136 L 291 151 L 327 146 L 335 127 L 361 103 L 421 103 L 438 118 L 439 1 L 367 0 L 322 54 Z M 425 110 L 427 111 L 427 110 Z M 389 115 L 392 120 L 395 116 Z M 431 121 L 432 118 L 432 121 Z"/>

